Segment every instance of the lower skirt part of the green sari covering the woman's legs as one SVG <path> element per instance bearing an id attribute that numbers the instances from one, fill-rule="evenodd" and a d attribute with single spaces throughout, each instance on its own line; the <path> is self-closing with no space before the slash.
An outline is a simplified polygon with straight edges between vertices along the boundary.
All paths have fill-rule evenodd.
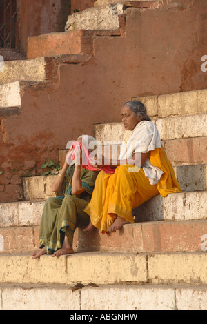
<path id="1" fill-rule="evenodd" d="M 66 196 L 49 198 L 43 209 L 39 231 L 39 247 L 46 247 L 47 254 L 61 249 L 65 235 L 72 246 L 75 229 L 90 223 L 90 216 L 83 212 L 89 201 Z"/>

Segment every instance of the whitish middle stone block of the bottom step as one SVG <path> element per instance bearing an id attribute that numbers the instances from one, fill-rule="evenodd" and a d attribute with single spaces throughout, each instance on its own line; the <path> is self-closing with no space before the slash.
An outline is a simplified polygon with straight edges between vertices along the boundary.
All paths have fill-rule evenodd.
<path id="1" fill-rule="evenodd" d="M 175 291 L 172 287 L 113 285 L 84 288 L 81 292 L 81 310 L 171 310 L 175 309 Z M 121 315 L 121 314 L 119 314 Z M 135 315 L 136 314 L 127 314 Z M 112 316 L 112 314 L 111 314 Z M 118 314 L 113 314 L 115 320 Z M 130 320 L 130 317 L 126 320 Z"/>

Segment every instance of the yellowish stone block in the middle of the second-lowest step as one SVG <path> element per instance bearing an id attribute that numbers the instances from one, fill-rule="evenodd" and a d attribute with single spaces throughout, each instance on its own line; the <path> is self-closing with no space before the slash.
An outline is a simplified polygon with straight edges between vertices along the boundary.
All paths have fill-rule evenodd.
<path id="1" fill-rule="evenodd" d="M 92 282 L 105 285 L 124 282 L 144 283 L 148 280 L 146 256 L 138 254 L 101 252 L 74 254 L 67 259 L 67 269 L 68 283 Z"/>

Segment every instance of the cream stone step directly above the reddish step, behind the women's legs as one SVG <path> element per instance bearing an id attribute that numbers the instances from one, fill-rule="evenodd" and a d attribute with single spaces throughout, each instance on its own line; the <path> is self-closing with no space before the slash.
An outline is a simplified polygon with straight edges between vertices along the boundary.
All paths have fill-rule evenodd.
<path id="1" fill-rule="evenodd" d="M 206 219 L 207 192 L 157 195 L 132 211 L 137 221 L 191 221 Z M 38 226 L 45 201 L 0 204 L 0 227 Z"/>

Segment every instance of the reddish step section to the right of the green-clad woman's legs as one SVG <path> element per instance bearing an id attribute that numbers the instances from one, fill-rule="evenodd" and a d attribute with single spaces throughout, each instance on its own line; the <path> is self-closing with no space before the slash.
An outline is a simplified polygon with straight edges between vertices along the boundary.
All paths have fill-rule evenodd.
<path id="1" fill-rule="evenodd" d="M 113 233 L 99 230 L 84 233 L 78 228 L 74 250 L 114 251 L 124 253 L 196 252 L 202 250 L 202 236 L 207 234 L 207 221 L 156 221 L 124 225 Z"/>

